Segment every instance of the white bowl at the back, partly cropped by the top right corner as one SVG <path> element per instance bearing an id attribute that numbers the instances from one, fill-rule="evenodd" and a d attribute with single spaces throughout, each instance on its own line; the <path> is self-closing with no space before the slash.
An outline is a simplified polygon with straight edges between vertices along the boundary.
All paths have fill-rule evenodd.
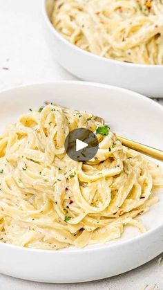
<path id="1" fill-rule="evenodd" d="M 163 98 L 163 65 L 129 64 L 99 57 L 70 44 L 50 23 L 54 0 L 42 0 L 44 30 L 52 55 L 67 71 L 81 80 L 102 82 Z"/>

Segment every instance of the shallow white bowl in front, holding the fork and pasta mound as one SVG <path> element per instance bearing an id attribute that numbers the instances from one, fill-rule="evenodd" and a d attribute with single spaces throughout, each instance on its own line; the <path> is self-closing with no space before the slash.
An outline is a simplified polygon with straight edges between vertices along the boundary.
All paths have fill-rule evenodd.
<path id="1" fill-rule="evenodd" d="M 88 82 L 35 84 L 0 93 L 0 130 L 45 100 L 90 111 L 105 118 L 114 132 L 161 149 L 163 108 L 156 102 L 116 87 Z M 40 282 L 97 280 L 140 266 L 163 250 L 163 192 L 159 203 L 140 216 L 147 232 L 127 227 L 121 239 L 83 249 L 34 250 L 0 243 L 0 272 Z"/>

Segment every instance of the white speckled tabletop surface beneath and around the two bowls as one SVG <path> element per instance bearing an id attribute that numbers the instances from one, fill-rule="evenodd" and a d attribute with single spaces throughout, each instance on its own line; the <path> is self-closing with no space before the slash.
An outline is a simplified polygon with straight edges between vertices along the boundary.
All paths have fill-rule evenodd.
<path id="1" fill-rule="evenodd" d="M 41 21 L 41 0 L 0 0 L 0 91 L 20 84 L 76 79 L 52 59 Z M 0 290 L 162 290 L 163 263 L 159 261 L 157 257 L 123 275 L 81 284 L 44 284 L 0 274 Z"/>

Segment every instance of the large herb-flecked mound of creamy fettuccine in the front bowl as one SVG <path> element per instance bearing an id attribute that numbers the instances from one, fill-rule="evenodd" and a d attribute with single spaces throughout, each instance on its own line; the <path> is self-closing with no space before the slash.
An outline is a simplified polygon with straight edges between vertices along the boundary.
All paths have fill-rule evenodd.
<path id="1" fill-rule="evenodd" d="M 78 127 L 99 141 L 88 162 L 65 152 L 66 136 Z M 162 173 L 108 127 L 102 134 L 103 127 L 92 114 L 47 105 L 6 128 L 0 137 L 1 242 L 55 250 L 117 239 L 126 225 L 144 232 L 136 217 L 157 202 L 152 192 L 163 185 Z"/>

